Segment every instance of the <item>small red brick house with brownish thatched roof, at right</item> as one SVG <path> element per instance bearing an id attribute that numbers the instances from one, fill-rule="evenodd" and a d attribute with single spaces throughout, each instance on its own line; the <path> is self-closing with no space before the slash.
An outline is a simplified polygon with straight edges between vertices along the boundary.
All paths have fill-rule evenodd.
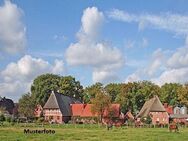
<path id="1" fill-rule="evenodd" d="M 158 96 L 154 96 L 150 100 L 146 101 L 140 110 L 137 118 L 144 118 L 150 116 L 152 119 L 152 124 L 168 124 L 169 115 L 166 112 L 164 106 L 159 100 Z"/>

